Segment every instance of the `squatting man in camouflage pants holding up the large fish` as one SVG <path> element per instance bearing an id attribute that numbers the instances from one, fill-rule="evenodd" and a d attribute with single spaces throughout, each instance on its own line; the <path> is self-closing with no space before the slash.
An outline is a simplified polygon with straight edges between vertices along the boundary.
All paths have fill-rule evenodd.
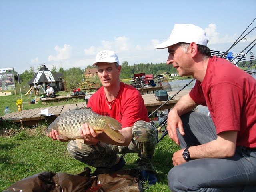
<path id="1" fill-rule="evenodd" d="M 75 141 L 68 144 L 68 152 L 73 158 L 93 167 L 119 170 L 125 165 L 124 158 L 117 154 L 138 153 L 137 167 L 142 181 L 156 184 L 152 157 L 157 142 L 157 130 L 150 123 L 148 111 L 140 92 L 134 87 L 120 82 L 121 66 L 115 52 L 104 50 L 96 55 L 96 66 L 102 87 L 95 92 L 87 106 L 100 115 L 115 118 L 122 124 L 120 133 L 124 143 L 110 139 L 105 133 L 95 133 L 87 124 L 80 130 L 85 143 L 80 150 Z M 52 131 L 52 138 L 57 139 Z"/>

